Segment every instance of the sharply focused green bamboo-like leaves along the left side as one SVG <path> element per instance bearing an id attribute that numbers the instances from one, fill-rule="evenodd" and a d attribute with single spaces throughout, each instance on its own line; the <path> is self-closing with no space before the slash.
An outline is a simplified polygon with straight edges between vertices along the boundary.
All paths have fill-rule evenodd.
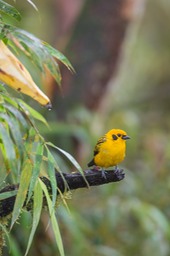
<path id="1" fill-rule="evenodd" d="M 1 40 L 10 46 L 16 54 L 23 52 L 41 72 L 45 73 L 48 69 L 60 85 L 61 74 L 56 59 L 73 71 L 73 67 L 67 58 L 46 42 L 6 23 L 3 19 L 4 13 L 17 21 L 21 20 L 20 13 L 13 6 L 0 1 L 0 13 L 2 15 L 0 21 Z M 57 199 L 55 172 L 61 172 L 61 170 L 51 150 L 55 145 L 45 141 L 36 125 L 36 120 L 44 125 L 47 125 L 47 122 L 40 113 L 27 105 L 24 100 L 19 99 L 18 95 L 13 96 L 12 93 L 9 93 L 3 84 L 0 85 L 0 102 L 0 184 L 3 187 L 5 182 L 19 183 L 12 213 L 11 228 L 18 220 L 25 201 L 27 200 L 27 204 L 29 204 L 29 201 L 33 200 L 31 233 L 25 253 L 27 255 L 40 220 L 44 193 L 48 202 L 48 211 L 59 252 L 60 255 L 64 255 L 61 235 L 54 214 Z M 58 147 L 57 150 L 81 171 L 80 166 L 69 153 Z M 39 176 L 42 174 L 51 181 L 52 198 L 39 180 Z M 2 193 L 1 200 L 13 194 L 9 192 Z"/>

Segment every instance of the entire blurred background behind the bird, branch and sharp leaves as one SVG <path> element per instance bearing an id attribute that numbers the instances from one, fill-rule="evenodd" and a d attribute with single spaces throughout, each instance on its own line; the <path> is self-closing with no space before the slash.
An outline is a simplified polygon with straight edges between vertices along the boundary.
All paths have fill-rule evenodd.
<path id="1" fill-rule="evenodd" d="M 53 101 L 51 112 L 39 108 L 50 125 L 40 127 L 44 136 L 83 169 L 109 129 L 124 129 L 131 137 L 123 181 L 73 192 L 70 213 L 57 208 L 66 256 L 169 256 L 170 2 L 35 3 L 39 12 L 16 1 L 23 16 L 18 26 L 61 50 L 76 70 L 61 67 L 62 91 L 51 78 L 44 81 Z M 72 170 L 58 161 L 63 172 Z M 30 214 L 20 221 L 10 255 L 23 255 L 26 248 Z M 43 213 L 29 255 L 58 255 L 47 226 Z"/>

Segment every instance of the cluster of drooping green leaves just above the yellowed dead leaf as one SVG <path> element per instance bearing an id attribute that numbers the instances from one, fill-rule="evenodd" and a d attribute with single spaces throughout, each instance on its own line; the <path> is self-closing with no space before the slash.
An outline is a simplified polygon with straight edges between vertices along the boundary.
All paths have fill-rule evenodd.
<path id="1" fill-rule="evenodd" d="M 16 47 L 18 47 L 31 58 L 31 61 L 35 63 L 41 72 L 45 72 L 45 68 L 47 68 L 59 86 L 61 84 L 61 73 L 55 59 L 61 61 L 70 71 L 74 72 L 74 68 L 69 60 L 48 43 L 43 42 L 27 31 L 11 25 L 7 26 L 9 27 L 9 32 L 7 33 L 8 44 L 14 51 L 16 52 Z"/>

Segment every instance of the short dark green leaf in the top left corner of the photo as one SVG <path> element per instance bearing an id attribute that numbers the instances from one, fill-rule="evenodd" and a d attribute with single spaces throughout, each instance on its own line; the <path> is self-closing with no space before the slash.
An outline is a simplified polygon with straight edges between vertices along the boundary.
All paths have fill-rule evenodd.
<path id="1" fill-rule="evenodd" d="M 3 12 L 17 21 L 21 20 L 21 14 L 12 5 L 0 0 L 0 12 Z"/>

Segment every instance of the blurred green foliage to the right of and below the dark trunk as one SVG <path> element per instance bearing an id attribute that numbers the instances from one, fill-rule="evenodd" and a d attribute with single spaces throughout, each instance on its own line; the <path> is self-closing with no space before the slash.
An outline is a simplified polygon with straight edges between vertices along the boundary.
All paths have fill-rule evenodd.
<path id="1" fill-rule="evenodd" d="M 62 123 L 56 122 L 56 115 L 50 112 L 50 129 L 40 124 L 50 141 L 69 148 L 84 166 L 103 132 L 116 126 L 131 136 L 122 164 L 124 181 L 74 193 L 68 202 L 71 216 L 63 207 L 57 209 L 65 253 L 69 256 L 169 256 L 170 6 L 169 1 L 144 2 L 146 6 L 137 8 L 139 13 L 126 33 L 116 82 L 110 81 L 102 107 L 96 112 L 82 105 L 74 111 L 68 109 L 67 120 Z M 59 155 L 56 159 L 61 163 Z M 49 224 L 46 219 L 45 213 L 30 255 L 56 255 L 50 228 L 45 233 L 42 230 Z M 19 221 L 23 228 L 15 225 L 10 237 L 12 255 L 23 255 L 28 239 L 22 238 L 29 237 L 30 216 L 22 214 Z"/>

